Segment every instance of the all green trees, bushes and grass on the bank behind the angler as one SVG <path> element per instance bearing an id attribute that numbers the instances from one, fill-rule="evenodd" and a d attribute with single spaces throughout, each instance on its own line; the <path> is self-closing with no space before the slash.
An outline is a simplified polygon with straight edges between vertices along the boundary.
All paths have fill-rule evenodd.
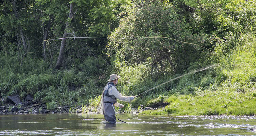
<path id="1" fill-rule="evenodd" d="M 112 73 L 121 75 L 118 90 L 135 96 L 217 64 L 122 110 L 166 104 L 143 113 L 255 115 L 255 7 L 254 0 L 3 0 L 0 104 L 31 95 L 48 110 L 92 107 Z"/>

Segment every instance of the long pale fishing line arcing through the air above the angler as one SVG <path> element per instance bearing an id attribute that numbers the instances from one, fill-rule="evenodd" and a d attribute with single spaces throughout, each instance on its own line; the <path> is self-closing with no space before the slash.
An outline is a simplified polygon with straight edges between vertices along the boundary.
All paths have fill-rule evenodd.
<path id="1" fill-rule="evenodd" d="M 69 38 L 87 38 L 87 39 L 146 39 L 146 38 L 167 38 L 167 39 L 171 39 L 171 40 L 175 40 L 175 41 L 179 41 L 181 43 L 185 43 L 185 44 L 191 44 L 191 45 L 196 45 L 196 46 L 200 46 L 200 45 L 197 45 L 197 44 L 193 44 L 193 43 L 188 43 L 188 42 L 185 42 L 185 41 L 181 41 L 181 40 L 177 40 L 177 39 L 173 39 L 173 38 L 169 38 L 169 37 L 163 37 L 163 36 L 152 36 L 152 37 L 135 37 L 135 38 L 106 38 L 106 37 L 65 37 L 65 38 L 56 38 L 56 39 L 48 39 L 48 40 L 44 40 L 44 41 L 49 41 L 49 40 L 59 40 L 59 39 L 69 39 Z M 200 46 L 204 49 L 207 49 L 203 46 Z M 207 49 L 211 52 L 213 52 L 212 50 L 210 49 Z"/>

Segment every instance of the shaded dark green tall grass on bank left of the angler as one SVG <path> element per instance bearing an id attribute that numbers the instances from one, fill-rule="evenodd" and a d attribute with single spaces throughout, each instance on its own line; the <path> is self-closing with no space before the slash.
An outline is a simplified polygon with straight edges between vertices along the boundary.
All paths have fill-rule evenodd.
<path id="1" fill-rule="evenodd" d="M 29 58 L 29 57 L 28 57 Z M 11 56 L 1 56 L 0 98 L 27 95 L 46 103 L 47 109 L 57 105 L 89 105 L 90 99 L 99 96 L 106 83 L 106 61 L 103 58 L 88 57 L 77 67 L 55 70 L 41 59 L 20 62 Z"/>

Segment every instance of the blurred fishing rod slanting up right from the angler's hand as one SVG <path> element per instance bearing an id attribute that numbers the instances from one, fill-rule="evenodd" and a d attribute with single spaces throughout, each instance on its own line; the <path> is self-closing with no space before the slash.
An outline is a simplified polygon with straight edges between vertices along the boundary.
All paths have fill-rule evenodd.
<path id="1" fill-rule="evenodd" d="M 159 84 L 159 85 L 157 85 L 157 86 L 155 86 L 155 87 L 153 87 L 153 88 L 150 88 L 150 89 L 148 89 L 148 90 L 146 90 L 146 91 L 140 93 L 139 95 L 142 95 L 142 94 L 144 94 L 144 93 L 146 93 L 146 92 L 148 92 L 148 91 L 151 91 L 151 90 L 153 90 L 153 89 L 155 89 L 155 88 L 157 88 L 157 87 L 159 87 L 159 86 L 162 86 L 162 85 L 164 85 L 164 84 L 167 84 L 167 83 L 169 83 L 169 82 L 171 82 L 171 81 L 173 81 L 173 80 L 176 80 L 176 79 L 179 79 L 179 78 L 181 78 L 181 77 L 184 77 L 185 75 L 194 74 L 194 73 L 196 73 L 196 72 L 200 72 L 200 71 L 203 71 L 203 70 L 207 70 L 207 69 L 209 69 L 209 68 L 215 67 L 216 65 L 217 65 L 217 64 L 213 64 L 213 65 L 209 65 L 209 66 L 206 66 L 206 67 L 203 67 L 203 68 L 199 68 L 199 69 L 190 71 L 190 72 L 188 72 L 188 73 L 186 73 L 186 74 L 183 74 L 183 75 L 181 75 L 181 76 L 179 76 L 179 77 L 176 77 L 176 78 L 171 79 L 171 80 L 169 80 L 169 81 L 167 81 L 167 82 L 164 82 L 164 83 L 162 83 L 162 84 Z M 134 97 L 138 97 L 139 95 L 136 95 L 136 96 L 134 96 Z"/>

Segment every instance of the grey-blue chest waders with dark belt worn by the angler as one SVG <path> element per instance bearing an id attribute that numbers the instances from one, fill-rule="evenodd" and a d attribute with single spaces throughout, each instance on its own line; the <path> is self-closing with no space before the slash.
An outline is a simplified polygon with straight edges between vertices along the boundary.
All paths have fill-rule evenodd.
<path id="1" fill-rule="evenodd" d="M 109 95 L 109 89 L 115 87 L 114 83 L 109 82 L 103 92 L 103 115 L 106 121 L 110 123 L 116 123 L 116 112 L 113 106 L 116 103 L 116 98 L 113 95 Z M 118 117 L 117 117 L 118 118 Z M 118 118 L 119 120 L 119 118 Z M 124 122 L 124 121 L 122 121 Z"/>

